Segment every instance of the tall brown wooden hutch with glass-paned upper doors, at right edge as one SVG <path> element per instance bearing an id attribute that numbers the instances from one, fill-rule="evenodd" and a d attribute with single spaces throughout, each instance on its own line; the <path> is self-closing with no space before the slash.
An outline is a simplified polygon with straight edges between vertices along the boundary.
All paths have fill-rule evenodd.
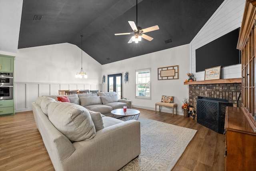
<path id="1" fill-rule="evenodd" d="M 256 0 L 246 0 L 237 48 L 242 57 L 242 107 L 226 108 L 226 171 L 252 171 L 256 170 Z"/>

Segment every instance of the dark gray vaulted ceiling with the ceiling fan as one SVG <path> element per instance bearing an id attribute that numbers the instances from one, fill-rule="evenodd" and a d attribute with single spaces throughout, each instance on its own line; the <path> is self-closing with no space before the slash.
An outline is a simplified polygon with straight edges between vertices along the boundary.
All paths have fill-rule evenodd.
<path id="1" fill-rule="evenodd" d="M 136 0 L 23 0 L 18 48 L 71 43 L 100 64 L 188 44 L 224 0 L 138 0 L 138 26 L 159 30 L 128 44 Z M 42 15 L 42 20 L 34 20 Z M 172 40 L 166 43 L 166 40 Z"/>

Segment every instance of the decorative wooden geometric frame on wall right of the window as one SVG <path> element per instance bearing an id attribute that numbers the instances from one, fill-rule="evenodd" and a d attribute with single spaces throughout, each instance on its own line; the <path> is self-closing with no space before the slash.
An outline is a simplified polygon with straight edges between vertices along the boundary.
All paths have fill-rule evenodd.
<path id="1" fill-rule="evenodd" d="M 158 80 L 179 79 L 179 66 L 167 66 L 158 68 Z"/>

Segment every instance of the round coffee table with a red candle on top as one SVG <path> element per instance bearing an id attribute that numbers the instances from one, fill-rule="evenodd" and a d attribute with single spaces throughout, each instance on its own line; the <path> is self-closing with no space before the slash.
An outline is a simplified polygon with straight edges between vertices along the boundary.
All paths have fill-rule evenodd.
<path id="1" fill-rule="evenodd" d="M 140 111 L 136 110 L 136 109 L 126 109 L 126 111 L 124 111 L 124 109 L 114 109 L 111 111 L 112 117 L 116 118 L 116 119 L 121 119 L 126 121 L 125 117 L 130 116 L 130 118 L 128 120 L 131 119 L 139 119 L 140 116 Z"/>

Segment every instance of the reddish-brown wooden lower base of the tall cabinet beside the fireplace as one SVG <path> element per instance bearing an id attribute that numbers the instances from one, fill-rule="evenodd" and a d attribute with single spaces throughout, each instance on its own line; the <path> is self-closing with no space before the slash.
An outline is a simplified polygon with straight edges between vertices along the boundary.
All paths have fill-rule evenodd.
<path id="1" fill-rule="evenodd" d="M 226 171 L 256 170 L 256 133 L 240 107 L 226 107 Z"/>

